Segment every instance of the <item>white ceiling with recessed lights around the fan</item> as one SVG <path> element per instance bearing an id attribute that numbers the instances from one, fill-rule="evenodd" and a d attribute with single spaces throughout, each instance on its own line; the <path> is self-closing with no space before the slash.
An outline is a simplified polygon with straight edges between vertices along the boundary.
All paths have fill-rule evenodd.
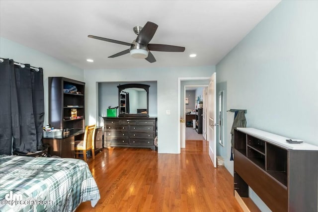
<path id="1" fill-rule="evenodd" d="M 0 0 L 0 36 L 81 69 L 216 65 L 279 0 Z M 129 54 L 107 58 L 131 43 L 133 27 L 159 25 L 150 43 L 184 46 L 154 52 L 157 62 Z M 189 54 L 196 53 L 196 58 Z M 86 62 L 86 59 L 94 63 Z"/>

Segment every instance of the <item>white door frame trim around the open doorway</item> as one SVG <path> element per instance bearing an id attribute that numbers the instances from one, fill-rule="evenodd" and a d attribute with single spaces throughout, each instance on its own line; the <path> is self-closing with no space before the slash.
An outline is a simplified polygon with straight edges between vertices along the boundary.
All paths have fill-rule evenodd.
<path id="1" fill-rule="evenodd" d="M 191 81 L 191 80 L 209 80 L 211 76 L 201 76 L 201 77 L 178 77 L 178 115 L 177 115 L 177 120 L 176 122 L 178 123 L 178 131 L 177 131 L 177 138 L 178 138 L 178 153 L 180 154 L 181 152 L 181 129 L 180 129 L 180 115 L 181 115 L 181 81 Z M 204 87 L 203 85 L 201 87 Z M 184 90 L 183 90 L 184 92 Z M 184 92 L 185 93 L 185 92 Z M 183 97 L 185 98 L 185 96 Z M 208 135 L 207 135 L 208 138 Z"/>

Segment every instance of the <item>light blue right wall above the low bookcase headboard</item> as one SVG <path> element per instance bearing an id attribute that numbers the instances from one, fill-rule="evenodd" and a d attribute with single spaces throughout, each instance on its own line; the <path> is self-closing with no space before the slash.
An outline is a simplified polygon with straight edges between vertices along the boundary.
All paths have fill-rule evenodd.
<path id="1" fill-rule="evenodd" d="M 318 1 L 281 1 L 216 66 L 227 109 L 247 109 L 247 127 L 318 145 L 317 11 Z"/>

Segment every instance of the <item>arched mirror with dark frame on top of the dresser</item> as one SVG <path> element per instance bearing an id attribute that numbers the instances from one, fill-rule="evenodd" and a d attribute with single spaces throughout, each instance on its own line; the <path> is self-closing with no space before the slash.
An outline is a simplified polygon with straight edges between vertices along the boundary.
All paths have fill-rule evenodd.
<path id="1" fill-rule="evenodd" d="M 149 117 L 149 87 L 146 84 L 118 85 L 119 117 Z"/>

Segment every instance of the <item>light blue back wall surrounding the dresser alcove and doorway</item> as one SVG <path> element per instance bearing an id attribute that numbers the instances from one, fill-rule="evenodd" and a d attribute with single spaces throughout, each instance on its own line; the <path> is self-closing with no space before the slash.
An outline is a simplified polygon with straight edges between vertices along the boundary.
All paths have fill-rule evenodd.
<path id="1" fill-rule="evenodd" d="M 180 114 L 178 114 L 178 78 L 210 77 L 214 71 L 214 66 L 85 70 L 86 96 L 87 102 L 89 102 L 86 105 L 86 120 L 88 123 L 95 123 L 98 117 L 98 82 L 157 81 L 158 152 L 180 153 L 180 142 L 178 142 L 180 136 L 178 134 L 180 123 Z M 170 111 L 171 115 L 166 115 L 167 110 Z"/>

